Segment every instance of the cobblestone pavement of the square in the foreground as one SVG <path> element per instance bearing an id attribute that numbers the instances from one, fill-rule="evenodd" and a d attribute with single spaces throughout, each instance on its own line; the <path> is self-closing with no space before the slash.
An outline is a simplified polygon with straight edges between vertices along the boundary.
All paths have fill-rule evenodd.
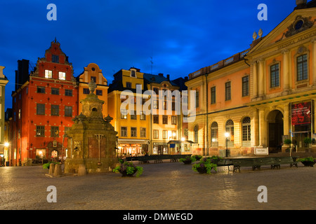
<path id="1" fill-rule="evenodd" d="M 219 167 L 217 174 L 198 174 L 180 162 L 140 165 L 140 177 L 120 174 L 46 176 L 35 167 L 0 167 L 0 209 L 316 209 L 316 167 L 262 167 L 241 173 Z M 48 186 L 57 202 L 48 203 Z M 268 189 L 268 202 L 257 200 L 259 186 Z"/>

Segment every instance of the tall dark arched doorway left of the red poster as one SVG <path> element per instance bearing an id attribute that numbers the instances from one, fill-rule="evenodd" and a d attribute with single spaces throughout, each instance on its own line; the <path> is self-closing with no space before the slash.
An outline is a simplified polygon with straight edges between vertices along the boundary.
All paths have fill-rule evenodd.
<path id="1" fill-rule="evenodd" d="M 270 153 L 282 151 L 283 113 L 279 110 L 268 114 L 268 147 Z"/>

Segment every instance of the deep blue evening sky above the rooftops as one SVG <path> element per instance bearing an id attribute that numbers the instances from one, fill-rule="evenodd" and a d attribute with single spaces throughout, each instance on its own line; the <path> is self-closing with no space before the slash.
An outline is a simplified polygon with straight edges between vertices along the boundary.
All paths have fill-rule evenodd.
<path id="1" fill-rule="evenodd" d="M 49 3 L 57 6 L 56 21 L 46 19 Z M 260 3 L 268 6 L 267 21 L 257 18 Z M 94 62 L 109 83 L 115 72 L 131 66 L 178 78 L 246 50 L 254 31 L 267 35 L 295 6 L 295 0 L 1 1 L 6 108 L 12 106 L 18 59 L 35 64 L 55 37 L 74 76 Z"/>

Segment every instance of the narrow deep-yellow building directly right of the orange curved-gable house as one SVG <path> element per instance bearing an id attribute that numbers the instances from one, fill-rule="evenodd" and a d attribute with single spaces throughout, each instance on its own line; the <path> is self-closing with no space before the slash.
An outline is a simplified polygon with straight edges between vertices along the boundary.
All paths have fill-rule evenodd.
<path id="1" fill-rule="evenodd" d="M 140 94 L 136 94 L 136 85 L 141 90 Z M 148 152 L 149 116 L 136 111 L 136 97 L 143 97 L 143 88 L 143 73 L 136 68 L 121 69 L 114 74 L 113 83 L 110 84 L 107 97 L 108 113 L 113 118 L 111 124 L 114 130 L 118 132 L 117 153 L 119 156 L 140 155 Z M 121 104 L 127 101 L 133 105 L 133 108 L 126 106 L 121 109 L 123 107 Z M 141 101 L 143 102 L 143 99 Z"/>

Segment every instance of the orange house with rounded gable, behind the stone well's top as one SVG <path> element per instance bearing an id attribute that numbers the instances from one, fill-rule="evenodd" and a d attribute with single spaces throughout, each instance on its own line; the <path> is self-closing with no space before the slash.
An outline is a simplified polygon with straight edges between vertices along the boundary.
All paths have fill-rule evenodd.
<path id="1" fill-rule="evenodd" d="M 90 63 L 88 66 L 84 67 L 84 71 L 77 76 L 77 81 L 79 82 L 79 102 L 81 99 L 85 99 L 86 95 L 89 94 L 88 83 L 91 79 L 97 84 L 96 95 L 98 99 L 104 101 L 103 104 L 103 117 L 107 114 L 107 79 L 103 76 L 102 70 L 99 68 L 98 64 Z M 82 105 L 78 102 L 78 114 L 82 112 Z"/>

